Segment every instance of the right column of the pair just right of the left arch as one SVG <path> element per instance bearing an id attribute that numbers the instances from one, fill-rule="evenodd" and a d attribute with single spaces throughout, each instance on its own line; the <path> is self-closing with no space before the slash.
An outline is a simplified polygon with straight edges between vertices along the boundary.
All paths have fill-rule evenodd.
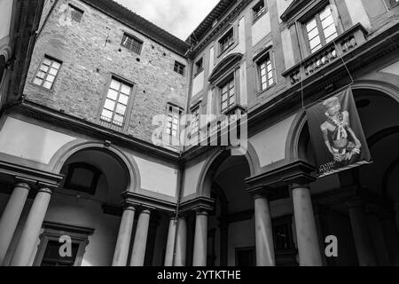
<path id="1" fill-rule="evenodd" d="M 138 217 L 135 242 L 131 253 L 130 266 L 143 266 L 145 262 L 145 248 L 147 245 L 148 226 L 151 211 L 144 209 Z"/>

